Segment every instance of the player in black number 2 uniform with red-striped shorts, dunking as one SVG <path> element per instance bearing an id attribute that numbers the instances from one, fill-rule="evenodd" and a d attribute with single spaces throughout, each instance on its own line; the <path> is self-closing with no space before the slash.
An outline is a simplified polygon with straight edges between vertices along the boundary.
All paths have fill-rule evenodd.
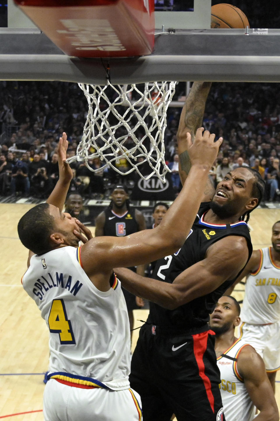
<path id="1" fill-rule="evenodd" d="M 210 85 L 194 83 L 181 113 L 177 137 L 183 182 L 191 169 L 184 137 L 193 137 L 200 124 Z M 153 302 L 140 329 L 130 376 L 141 395 L 145 421 L 169 420 L 172 413 L 178 421 L 222 419 L 214 337 L 207 322 L 251 257 L 244 218 L 248 220 L 263 192 L 264 181 L 251 168 L 229 172 L 216 192 L 209 180 L 202 200 L 206 203 L 201 203 L 187 240 L 176 253 L 157 261 L 154 279 L 117 269 L 125 288 Z"/>

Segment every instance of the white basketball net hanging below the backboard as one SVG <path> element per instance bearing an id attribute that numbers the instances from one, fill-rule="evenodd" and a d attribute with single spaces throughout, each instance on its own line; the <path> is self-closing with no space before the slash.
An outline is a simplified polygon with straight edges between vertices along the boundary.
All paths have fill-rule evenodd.
<path id="1" fill-rule="evenodd" d="M 101 169 L 93 169 L 91 160 L 100 157 L 120 174 L 136 170 L 142 179 L 156 174 L 165 182 L 165 174 L 170 170 L 164 160 L 163 137 L 166 111 L 176 82 L 146 82 L 138 87 L 111 83 L 78 85 L 88 100 L 88 117 L 77 155 L 67 162 L 85 161 L 89 170 L 97 172 Z M 125 172 L 117 168 L 124 158 L 129 166 Z M 139 171 L 146 162 L 152 169 L 149 175 Z"/>

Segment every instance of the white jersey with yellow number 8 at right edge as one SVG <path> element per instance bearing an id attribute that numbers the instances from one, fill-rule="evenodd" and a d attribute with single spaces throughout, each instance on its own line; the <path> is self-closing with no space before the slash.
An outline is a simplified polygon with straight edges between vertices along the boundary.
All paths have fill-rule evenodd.
<path id="1" fill-rule="evenodd" d="M 259 250 L 261 261 L 245 283 L 245 297 L 240 318 L 252 325 L 280 320 L 280 267 L 272 259 L 271 247 Z"/>

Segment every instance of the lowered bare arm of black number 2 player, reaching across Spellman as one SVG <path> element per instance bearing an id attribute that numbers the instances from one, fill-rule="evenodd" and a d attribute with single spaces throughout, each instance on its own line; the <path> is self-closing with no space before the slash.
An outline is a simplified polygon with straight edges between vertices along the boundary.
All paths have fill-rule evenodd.
<path id="1" fill-rule="evenodd" d="M 211 293 L 227 279 L 234 279 L 246 264 L 244 237 L 229 236 L 208 248 L 204 260 L 184 270 L 172 284 L 140 277 L 128 269 L 114 269 L 124 288 L 167 309 Z"/>

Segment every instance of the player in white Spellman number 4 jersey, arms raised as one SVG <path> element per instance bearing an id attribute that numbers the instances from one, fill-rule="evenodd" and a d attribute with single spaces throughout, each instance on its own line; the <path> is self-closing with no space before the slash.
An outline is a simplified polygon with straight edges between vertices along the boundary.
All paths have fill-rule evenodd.
<path id="1" fill-rule="evenodd" d="M 112 268 L 148 263 L 181 247 L 222 141 L 214 138 L 203 128 L 194 144 L 187 136 L 193 168 L 159 226 L 126 237 L 95 237 L 81 247 L 79 222 L 61 212 L 72 170 L 66 133 L 60 138 L 59 181 L 47 203 L 30 209 L 18 224 L 30 250 L 22 284 L 50 330 L 46 421 L 141 419 L 139 395 L 128 381 L 127 309 Z"/>

